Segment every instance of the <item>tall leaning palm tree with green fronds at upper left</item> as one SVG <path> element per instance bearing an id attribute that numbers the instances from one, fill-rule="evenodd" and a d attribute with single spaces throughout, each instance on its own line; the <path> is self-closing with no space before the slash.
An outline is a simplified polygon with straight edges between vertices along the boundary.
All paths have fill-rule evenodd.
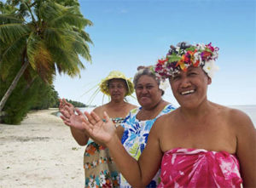
<path id="1" fill-rule="evenodd" d="M 1 78 L 8 77 L 12 67 L 20 66 L 0 102 L 0 113 L 25 71 L 32 69 L 45 82 L 52 83 L 56 71 L 71 77 L 79 75 L 84 68 L 79 57 L 90 62 L 88 43 L 92 41 L 84 27 L 92 26 L 92 22 L 80 14 L 79 6 L 56 2 L 7 0 L 0 4 Z"/>

